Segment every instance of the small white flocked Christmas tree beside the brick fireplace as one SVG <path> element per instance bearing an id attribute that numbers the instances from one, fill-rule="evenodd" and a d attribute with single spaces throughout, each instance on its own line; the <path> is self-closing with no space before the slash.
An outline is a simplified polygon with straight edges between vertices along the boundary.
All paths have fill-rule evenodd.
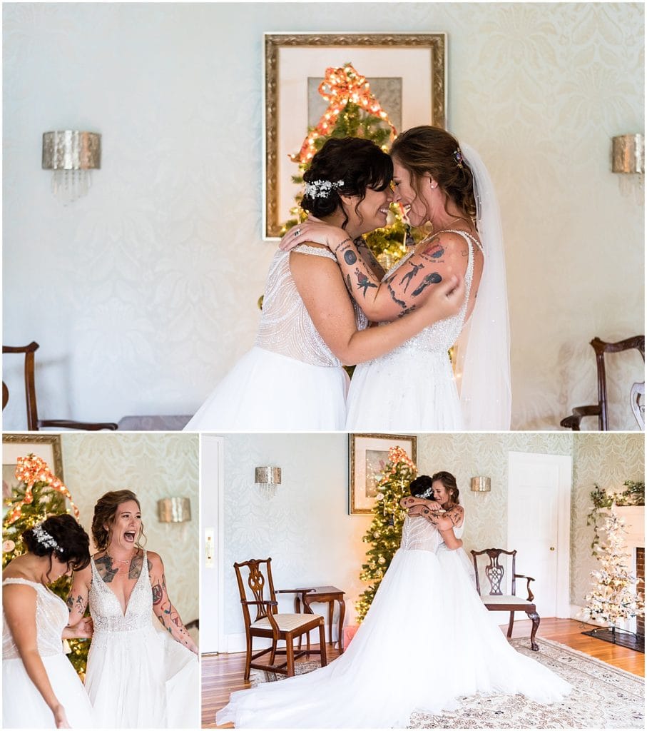
<path id="1" fill-rule="evenodd" d="M 605 520 L 606 542 L 597 551 L 600 569 L 592 572 L 595 586 L 586 594 L 588 607 L 585 618 L 600 619 L 615 628 L 621 619 L 644 613 L 644 597 L 634 590 L 636 577 L 629 572 L 629 556 L 624 550 L 624 519 L 619 518 L 612 505 Z"/>

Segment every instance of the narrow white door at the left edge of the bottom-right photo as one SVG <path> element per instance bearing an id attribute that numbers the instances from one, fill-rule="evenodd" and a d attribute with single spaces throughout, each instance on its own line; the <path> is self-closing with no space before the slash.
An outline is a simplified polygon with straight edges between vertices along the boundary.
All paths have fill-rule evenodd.
<path id="1" fill-rule="evenodd" d="M 223 450 L 224 438 L 200 440 L 200 652 L 223 649 Z"/>

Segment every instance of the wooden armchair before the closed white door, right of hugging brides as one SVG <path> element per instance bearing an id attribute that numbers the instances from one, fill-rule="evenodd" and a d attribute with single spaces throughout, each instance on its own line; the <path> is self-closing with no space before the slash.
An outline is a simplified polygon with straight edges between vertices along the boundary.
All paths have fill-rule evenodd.
<path id="1" fill-rule="evenodd" d="M 481 596 L 481 601 L 485 605 L 486 609 L 491 612 L 510 612 L 510 621 L 508 622 L 508 639 L 512 637 L 512 628 L 514 624 L 514 613 L 525 612 L 529 619 L 532 619 L 532 630 L 530 631 L 530 647 L 536 651 L 539 650 L 539 645 L 535 642 L 535 635 L 537 635 L 537 628 L 539 627 L 540 618 L 537 614 L 537 607 L 533 603 L 532 591 L 530 591 L 530 582 L 534 581 L 531 576 L 524 576 L 523 574 L 516 573 L 516 550 L 505 550 L 504 548 L 486 548 L 485 550 L 472 550 L 472 561 L 474 561 L 474 572 L 476 575 L 476 591 Z M 505 567 L 499 561 L 502 553 L 506 556 L 512 556 L 512 577 L 510 581 L 511 594 L 503 594 L 501 591 L 501 585 L 505 578 Z M 489 564 L 485 567 L 483 572 L 489 581 L 489 591 L 483 593 L 481 591 L 481 582 L 479 580 L 478 570 L 478 556 L 487 554 L 489 558 Z M 516 580 L 526 579 L 528 598 L 521 599 L 520 596 L 515 596 L 516 591 Z M 505 586 L 505 584 L 504 584 Z"/>

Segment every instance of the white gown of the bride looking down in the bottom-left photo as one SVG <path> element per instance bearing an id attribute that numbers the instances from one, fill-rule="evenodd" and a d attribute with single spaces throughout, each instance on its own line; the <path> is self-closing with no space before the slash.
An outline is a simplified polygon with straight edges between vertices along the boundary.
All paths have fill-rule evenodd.
<path id="1" fill-rule="evenodd" d="M 27 579 L 5 579 L 2 586 L 7 584 L 24 584 L 36 591 L 38 653 L 45 664 L 47 678 L 72 728 L 91 728 L 88 694 L 63 652 L 61 634 L 69 619 L 65 602 L 46 586 Z M 2 619 L 2 727 L 55 728 L 53 713 L 27 675 L 4 613 Z"/>

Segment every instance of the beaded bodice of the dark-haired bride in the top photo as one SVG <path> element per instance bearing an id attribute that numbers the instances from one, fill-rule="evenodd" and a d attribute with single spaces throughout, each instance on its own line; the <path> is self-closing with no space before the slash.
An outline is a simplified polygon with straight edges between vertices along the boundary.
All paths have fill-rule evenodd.
<path id="1" fill-rule="evenodd" d="M 294 251 L 337 260 L 328 249 L 301 244 Z M 367 327 L 364 313 L 353 302 L 358 330 Z M 256 345 L 313 366 L 340 367 L 341 361 L 317 332 L 290 271 L 290 252 L 277 251 L 267 275 L 263 312 Z"/>

